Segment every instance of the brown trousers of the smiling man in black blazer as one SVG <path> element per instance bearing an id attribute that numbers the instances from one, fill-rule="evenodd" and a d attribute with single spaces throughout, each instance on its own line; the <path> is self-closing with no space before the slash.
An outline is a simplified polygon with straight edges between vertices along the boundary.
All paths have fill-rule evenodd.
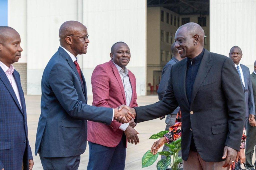
<path id="1" fill-rule="evenodd" d="M 197 152 L 189 151 L 188 160 L 183 160 L 184 170 L 226 170 L 223 168 L 225 161 L 205 162 Z"/>

